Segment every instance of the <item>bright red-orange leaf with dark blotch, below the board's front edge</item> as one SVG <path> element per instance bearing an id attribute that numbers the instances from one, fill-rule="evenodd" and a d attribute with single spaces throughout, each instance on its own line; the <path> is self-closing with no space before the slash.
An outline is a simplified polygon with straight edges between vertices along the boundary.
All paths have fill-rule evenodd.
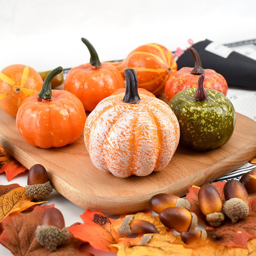
<path id="1" fill-rule="evenodd" d="M 121 237 L 111 223 L 111 219 L 101 212 L 86 210 L 80 215 L 84 223 L 69 227 L 76 238 L 88 242 L 97 250 L 115 251 L 110 244 L 118 243 Z"/>

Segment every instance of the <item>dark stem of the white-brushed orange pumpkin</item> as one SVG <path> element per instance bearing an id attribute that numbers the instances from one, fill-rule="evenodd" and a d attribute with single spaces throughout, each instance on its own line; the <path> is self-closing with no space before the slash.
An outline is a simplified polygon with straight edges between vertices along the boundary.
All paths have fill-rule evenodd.
<path id="1" fill-rule="evenodd" d="M 138 103 L 140 96 L 138 93 L 138 77 L 136 71 L 133 68 L 127 68 L 124 70 L 124 75 L 126 86 L 123 101 L 125 103 Z"/>

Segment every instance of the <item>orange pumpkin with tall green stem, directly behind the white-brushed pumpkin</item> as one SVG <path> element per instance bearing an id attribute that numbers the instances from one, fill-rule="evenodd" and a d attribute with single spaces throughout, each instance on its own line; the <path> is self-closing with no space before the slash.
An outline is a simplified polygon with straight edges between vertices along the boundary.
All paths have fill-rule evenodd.
<path id="1" fill-rule="evenodd" d="M 87 39 L 82 38 L 82 42 L 91 54 L 90 63 L 68 71 L 65 90 L 82 101 L 85 111 L 92 111 L 100 100 L 110 96 L 116 89 L 124 88 L 124 79 L 113 65 L 100 63 L 96 50 Z"/>

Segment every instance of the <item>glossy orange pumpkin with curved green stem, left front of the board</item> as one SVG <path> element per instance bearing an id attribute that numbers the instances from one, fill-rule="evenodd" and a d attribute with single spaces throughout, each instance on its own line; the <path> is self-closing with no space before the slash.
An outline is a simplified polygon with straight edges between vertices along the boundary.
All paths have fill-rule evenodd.
<path id="1" fill-rule="evenodd" d="M 52 78 L 62 70 L 53 69 L 42 90 L 24 100 L 18 110 L 18 131 L 32 146 L 62 147 L 76 141 L 84 130 L 86 115 L 82 102 L 71 92 L 51 89 Z"/>

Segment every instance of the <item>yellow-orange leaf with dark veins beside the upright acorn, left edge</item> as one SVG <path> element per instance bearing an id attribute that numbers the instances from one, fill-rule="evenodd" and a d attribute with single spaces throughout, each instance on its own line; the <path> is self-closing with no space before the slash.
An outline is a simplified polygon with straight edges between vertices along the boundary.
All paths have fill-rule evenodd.
<path id="1" fill-rule="evenodd" d="M 25 196 L 25 188 L 18 187 L 0 196 L 0 222 L 12 212 L 21 212 L 32 205 L 44 202 L 30 202 L 32 198 Z"/>

